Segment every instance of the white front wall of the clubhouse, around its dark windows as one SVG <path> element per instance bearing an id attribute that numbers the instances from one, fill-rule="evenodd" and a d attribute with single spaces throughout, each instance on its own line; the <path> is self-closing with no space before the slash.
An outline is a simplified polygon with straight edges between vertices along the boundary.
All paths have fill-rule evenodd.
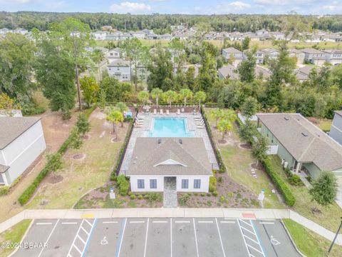
<path id="1" fill-rule="evenodd" d="M 164 177 L 177 178 L 178 192 L 208 192 L 209 191 L 209 176 L 130 176 L 130 190 L 132 192 L 162 192 L 164 191 Z M 145 180 L 145 188 L 138 188 L 138 179 Z M 157 188 L 150 188 L 150 179 L 157 179 Z M 189 188 L 182 188 L 182 179 L 189 180 Z M 194 180 L 201 180 L 201 187 L 194 188 Z"/>

